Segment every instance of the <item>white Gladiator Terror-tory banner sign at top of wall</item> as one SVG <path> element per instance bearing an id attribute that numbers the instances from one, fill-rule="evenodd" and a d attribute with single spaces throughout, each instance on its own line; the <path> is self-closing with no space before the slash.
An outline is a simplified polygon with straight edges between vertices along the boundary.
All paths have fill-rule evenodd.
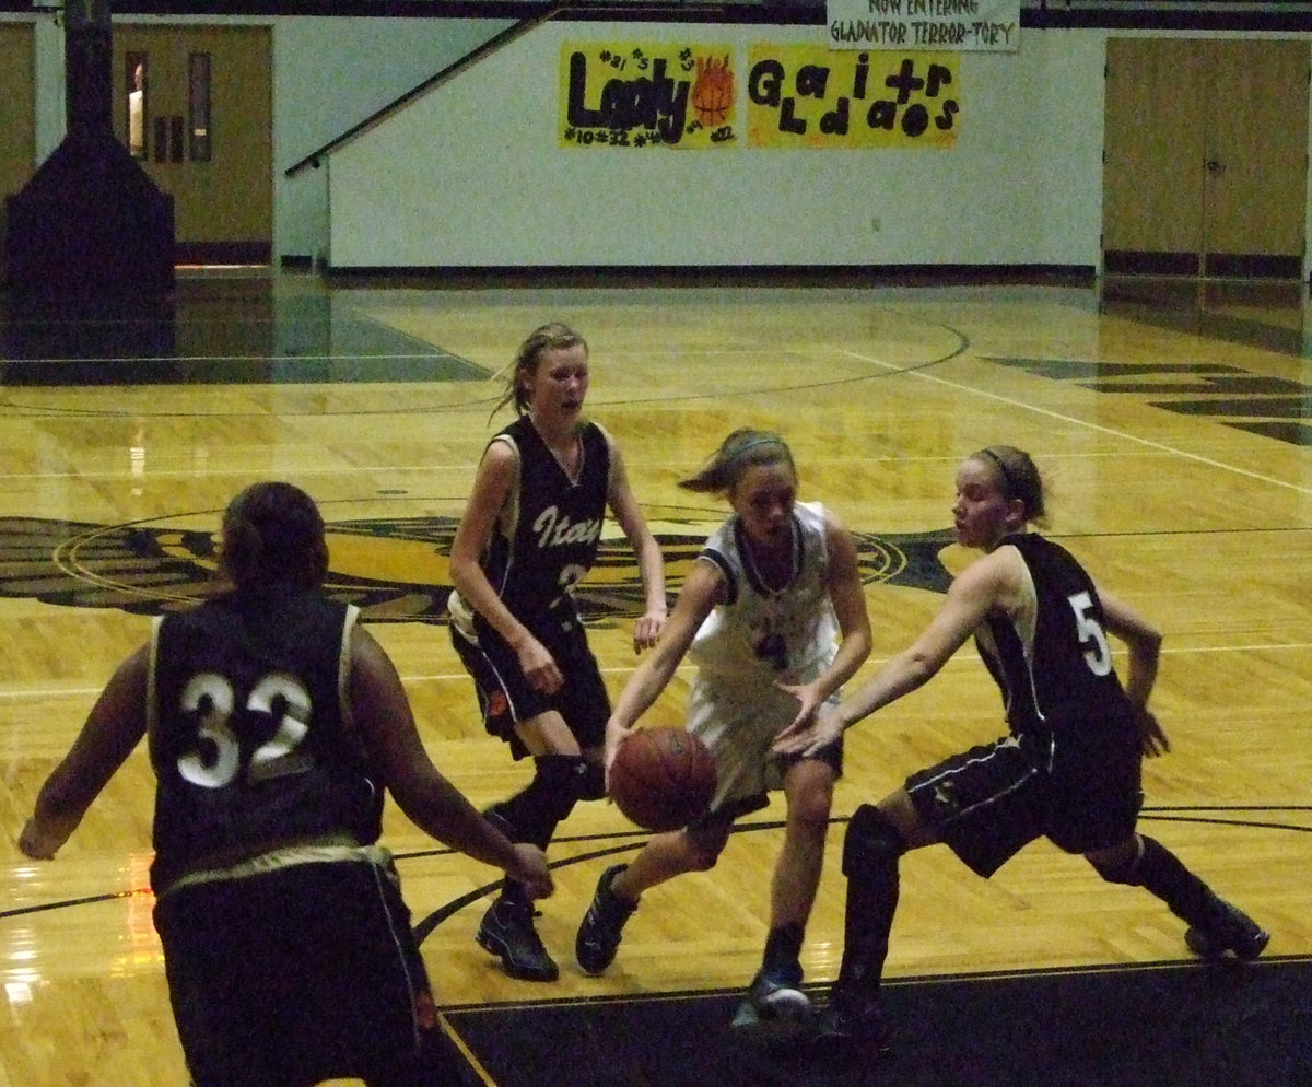
<path id="1" fill-rule="evenodd" d="M 1010 53 L 1021 0 L 828 0 L 830 49 Z"/>

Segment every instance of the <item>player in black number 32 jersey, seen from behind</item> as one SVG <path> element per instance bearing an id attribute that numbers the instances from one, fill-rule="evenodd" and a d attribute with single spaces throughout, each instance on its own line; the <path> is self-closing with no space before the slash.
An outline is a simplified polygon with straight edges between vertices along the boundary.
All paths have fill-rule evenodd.
<path id="1" fill-rule="evenodd" d="M 257 483 L 223 516 L 231 584 L 156 620 L 46 780 L 18 839 L 49 860 L 143 735 L 157 778 L 151 889 L 195 1087 L 447 1087 L 437 1021 L 391 855 L 383 793 L 413 822 L 550 894 L 429 761 L 390 658 L 321 591 L 315 503 Z"/>

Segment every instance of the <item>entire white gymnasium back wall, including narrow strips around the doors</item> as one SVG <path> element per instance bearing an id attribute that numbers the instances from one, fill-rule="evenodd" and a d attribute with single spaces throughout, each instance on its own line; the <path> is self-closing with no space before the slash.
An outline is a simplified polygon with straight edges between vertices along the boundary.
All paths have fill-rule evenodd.
<path id="1" fill-rule="evenodd" d="M 39 163 L 63 137 L 62 30 L 51 14 L 9 17 L 37 24 Z M 1018 53 L 958 54 L 962 113 L 950 150 L 749 147 L 740 129 L 737 142 L 719 150 L 636 151 L 560 146 L 564 42 L 724 42 L 739 74 L 741 126 L 749 51 L 820 43 L 824 28 L 547 22 L 350 139 L 321 169 L 287 177 L 290 165 L 512 21 L 168 21 L 273 25 L 274 259 L 321 259 L 340 269 L 1096 268 L 1106 38 L 1182 33 L 1023 28 Z"/>

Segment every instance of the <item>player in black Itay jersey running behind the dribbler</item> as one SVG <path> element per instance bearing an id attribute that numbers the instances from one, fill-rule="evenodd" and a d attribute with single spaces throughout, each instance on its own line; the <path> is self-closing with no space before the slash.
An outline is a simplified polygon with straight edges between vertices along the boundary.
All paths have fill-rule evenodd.
<path id="1" fill-rule="evenodd" d="M 588 377 L 588 345 L 568 326 L 544 324 L 521 344 L 493 408 L 513 403 L 520 417 L 488 442 L 451 544 L 451 642 L 488 733 L 513 757 L 534 760 L 529 785 L 488 815 L 512 842 L 543 849 L 577 801 L 605 796 L 610 697 L 572 589 L 597 557 L 607 509 L 638 557 L 646 595 L 635 651 L 656 643 L 666 614 L 660 546 L 619 448 L 581 415 Z M 478 943 L 512 977 L 559 977 L 513 880 L 488 907 Z"/>

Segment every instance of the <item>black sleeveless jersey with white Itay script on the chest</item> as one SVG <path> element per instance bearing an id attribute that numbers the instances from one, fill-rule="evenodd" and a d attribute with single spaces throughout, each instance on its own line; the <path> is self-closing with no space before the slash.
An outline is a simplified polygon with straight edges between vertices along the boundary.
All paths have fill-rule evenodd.
<path id="1" fill-rule="evenodd" d="M 501 601 L 535 637 L 550 637 L 575 616 L 569 591 L 592 568 L 610 491 L 610 444 L 596 423 L 579 431 L 583 462 L 569 479 L 521 416 L 493 441 L 520 453 L 520 488 L 492 533 L 483 571 Z"/>

